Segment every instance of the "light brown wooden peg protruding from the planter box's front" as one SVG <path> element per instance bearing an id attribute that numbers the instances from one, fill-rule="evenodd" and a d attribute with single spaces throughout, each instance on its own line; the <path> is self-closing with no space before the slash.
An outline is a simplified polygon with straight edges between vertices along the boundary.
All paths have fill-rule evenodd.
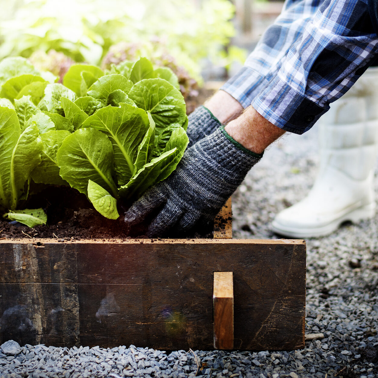
<path id="1" fill-rule="evenodd" d="M 232 272 L 214 272 L 214 348 L 234 348 L 234 285 Z"/>

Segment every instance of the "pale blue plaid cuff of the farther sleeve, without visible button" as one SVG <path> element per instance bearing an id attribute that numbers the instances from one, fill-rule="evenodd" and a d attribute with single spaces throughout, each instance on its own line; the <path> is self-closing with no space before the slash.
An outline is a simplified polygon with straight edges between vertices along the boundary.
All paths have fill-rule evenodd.
<path id="1" fill-rule="evenodd" d="M 239 101 L 243 108 L 246 108 L 251 105 L 254 98 L 266 84 L 268 84 L 268 81 L 265 77 L 260 76 L 252 68 L 244 66 L 237 74 L 226 81 L 220 89 Z"/>

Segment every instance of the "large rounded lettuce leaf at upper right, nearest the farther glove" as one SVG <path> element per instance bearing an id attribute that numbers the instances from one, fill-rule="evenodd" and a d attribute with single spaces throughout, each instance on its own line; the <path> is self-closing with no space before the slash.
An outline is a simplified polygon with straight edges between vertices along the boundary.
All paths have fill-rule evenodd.
<path id="1" fill-rule="evenodd" d="M 164 79 L 145 79 L 136 83 L 129 93 L 136 106 L 150 111 L 159 135 L 169 124 L 183 125 L 186 107 L 183 95 Z"/>

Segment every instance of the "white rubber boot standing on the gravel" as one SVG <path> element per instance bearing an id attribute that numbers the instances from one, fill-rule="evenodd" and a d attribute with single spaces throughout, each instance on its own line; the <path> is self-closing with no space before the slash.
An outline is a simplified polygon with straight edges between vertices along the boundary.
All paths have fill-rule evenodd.
<path id="1" fill-rule="evenodd" d="M 378 151 L 378 67 L 369 68 L 318 122 L 321 164 L 310 193 L 272 222 L 294 238 L 330 234 L 350 220 L 375 215 Z"/>

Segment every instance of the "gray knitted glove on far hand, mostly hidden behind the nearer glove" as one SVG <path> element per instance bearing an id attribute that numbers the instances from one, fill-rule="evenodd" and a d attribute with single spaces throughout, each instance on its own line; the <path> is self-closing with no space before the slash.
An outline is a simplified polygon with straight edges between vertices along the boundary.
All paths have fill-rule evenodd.
<path id="1" fill-rule="evenodd" d="M 188 118 L 189 123 L 186 130 L 189 138 L 188 148 L 205 136 L 210 135 L 221 126 L 218 119 L 215 118 L 210 110 L 203 105 L 199 106 L 194 112 L 189 114 Z"/>

